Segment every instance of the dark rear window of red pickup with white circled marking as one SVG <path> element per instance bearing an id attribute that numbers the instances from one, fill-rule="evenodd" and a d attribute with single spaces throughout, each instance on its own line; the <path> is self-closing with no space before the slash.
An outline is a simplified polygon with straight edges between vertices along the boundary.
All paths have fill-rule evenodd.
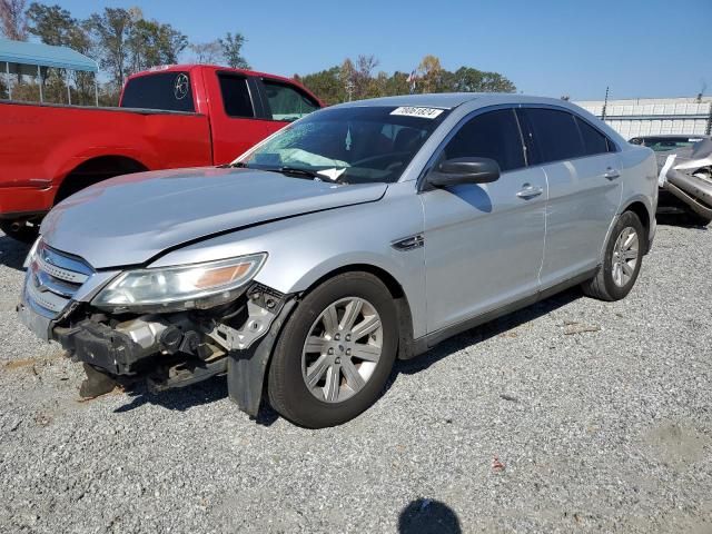
<path id="1" fill-rule="evenodd" d="M 196 110 L 188 72 L 160 72 L 132 78 L 123 89 L 122 108 Z"/>

